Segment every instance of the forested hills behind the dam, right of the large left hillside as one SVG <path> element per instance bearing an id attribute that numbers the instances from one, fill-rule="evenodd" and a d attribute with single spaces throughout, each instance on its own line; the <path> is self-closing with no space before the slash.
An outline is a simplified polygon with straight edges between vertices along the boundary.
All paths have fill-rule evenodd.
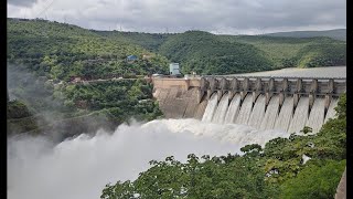
<path id="1" fill-rule="evenodd" d="M 202 31 L 178 34 L 118 31 L 97 33 L 129 41 L 160 53 L 170 61 L 180 62 L 184 73 L 195 71 L 204 74 L 228 74 L 346 64 L 345 41 L 325 36 L 215 35 Z"/>

